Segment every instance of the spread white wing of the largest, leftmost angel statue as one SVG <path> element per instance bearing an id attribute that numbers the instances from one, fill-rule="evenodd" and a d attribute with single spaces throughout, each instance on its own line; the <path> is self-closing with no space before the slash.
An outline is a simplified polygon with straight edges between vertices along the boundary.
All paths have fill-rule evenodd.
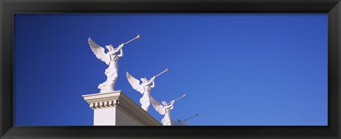
<path id="1" fill-rule="evenodd" d="M 105 53 L 104 48 L 94 43 L 94 40 L 92 40 L 91 38 L 89 38 L 89 45 L 90 45 L 92 52 L 94 52 L 94 55 L 96 55 L 96 57 L 99 60 L 102 60 L 105 62 L 105 64 L 109 65 L 110 63 L 109 52 Z"/>

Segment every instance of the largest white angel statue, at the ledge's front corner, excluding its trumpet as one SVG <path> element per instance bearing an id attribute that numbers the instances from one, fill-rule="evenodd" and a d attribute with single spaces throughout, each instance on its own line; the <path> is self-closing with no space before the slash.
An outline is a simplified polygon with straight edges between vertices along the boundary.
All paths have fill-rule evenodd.
<path id="1" fill-rule="evenodd" d="M 104 72 L 107 75 L 107 81 L 99 84 L 98 89 L 101 89 L 101 93 L 109 93 L 114 91 L 114 85 L 118 77 L 117 64 L 119 57 L 123 57 L 122 47 L 124 46 L 124 43 L 119 45 L 117 48 L 114 48 L 112 45 L 105 45 L 105 47 L 109 50 L 107 53 L 104 52 L 104 48 L 94 43 L 91 38 L 89 38 L 89 45 L 92 52 L 94 52 L 94 55 L 96 55 L 99 60 L 102 60 L 105 62 L 105 64 L 109 65 L 107 70 Z M 117 55 L 117 52 L 119 51 L 120 54 Z"/>

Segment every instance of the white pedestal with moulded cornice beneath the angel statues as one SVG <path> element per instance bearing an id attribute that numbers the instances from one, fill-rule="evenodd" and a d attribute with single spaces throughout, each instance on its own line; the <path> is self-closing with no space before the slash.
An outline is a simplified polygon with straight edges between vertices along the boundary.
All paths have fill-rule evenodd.
<path id="1" fill-rule="evenodd" d="M 83 98 L 94 110 L 94 126 L 161 126 L 122 91 L 87 94 Z"/>

